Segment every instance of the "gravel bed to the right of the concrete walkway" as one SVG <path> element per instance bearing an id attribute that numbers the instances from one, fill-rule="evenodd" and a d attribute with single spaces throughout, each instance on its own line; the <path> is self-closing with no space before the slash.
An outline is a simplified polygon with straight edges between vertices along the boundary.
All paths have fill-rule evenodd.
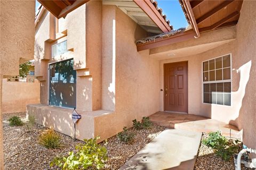
<path id="1" fill-rule="evenodd" d="M 202 139 L 205 139 L 207 134 L 203 134 Z M 201 143 L 198 151 L 195 170 L 234 170 L 234 158 L 232 157 L 228 162 L 222 160 L 220 157 L 214 155 L 214 151 Z M 246 168 L 242 168 L 246 169 Z"/>

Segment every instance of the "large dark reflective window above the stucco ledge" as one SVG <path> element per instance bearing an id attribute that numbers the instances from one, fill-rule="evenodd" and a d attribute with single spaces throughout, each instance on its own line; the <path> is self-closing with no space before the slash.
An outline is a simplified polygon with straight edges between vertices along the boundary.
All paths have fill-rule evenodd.
<path id="1" fill-rule="evenodd" d="M 49 104 L 76 107 L 76 71 L 73 59 L 50 65 Z"/>

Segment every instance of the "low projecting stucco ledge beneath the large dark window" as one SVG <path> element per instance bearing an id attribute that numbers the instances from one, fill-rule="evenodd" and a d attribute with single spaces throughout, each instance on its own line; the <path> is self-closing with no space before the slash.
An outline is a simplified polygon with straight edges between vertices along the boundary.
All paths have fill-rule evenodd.
<path id="1" fill-rule="evenodd" d="M 99 128 L 102 125 L 102 120 L 108 120 L 112 117 L 114 111 L 84 111 L 76 109 L 77 113 L 82 116 L 76 124 L 76 138 L 79 140 L 94 138 L 100 135 L 101 142 L 110 138 L 114 134 L 106 134 L 105 129 Z M 71 119 L 73 109 L 62 108 L 55 106 L 48 106 L 43 104 L 27 105 L 27 117 L 29 115 L 35 116 L 35 122 L 52 128 L 55 131 L 74 137 L 74 123 Z M 106 122 L 107 123 L 107 122 Z"/>

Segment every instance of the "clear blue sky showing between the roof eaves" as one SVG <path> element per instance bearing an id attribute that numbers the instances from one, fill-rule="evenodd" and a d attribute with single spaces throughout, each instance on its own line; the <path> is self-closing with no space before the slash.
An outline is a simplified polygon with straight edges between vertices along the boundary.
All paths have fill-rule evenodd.
<path id="1" fill-rule="evenodd" d="M 173 29 L 177 30 L 182 27 L 187 27 L 188 22 L 180 6 L 179 0 L 157 0 L 158 7 L 161 7 L 163 14 L 170 20 Z M 36 11 L 40 4 L 36 1 Z"/>

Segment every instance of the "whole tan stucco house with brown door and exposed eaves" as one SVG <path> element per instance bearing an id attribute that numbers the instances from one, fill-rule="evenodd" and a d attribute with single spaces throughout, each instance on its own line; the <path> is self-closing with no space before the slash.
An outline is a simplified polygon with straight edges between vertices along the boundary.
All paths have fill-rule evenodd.
<path id="1" fill-rule="evenodd" d="M 89 1 L 35 20 L 37 123 L 105 140 L 159 111 L 235 125 L 256 147 L 256 2 L 180 1 L 188 28 L 173 30 L 149 0 Z M 170 113 L 170 114 L 171 114 Z"/>

